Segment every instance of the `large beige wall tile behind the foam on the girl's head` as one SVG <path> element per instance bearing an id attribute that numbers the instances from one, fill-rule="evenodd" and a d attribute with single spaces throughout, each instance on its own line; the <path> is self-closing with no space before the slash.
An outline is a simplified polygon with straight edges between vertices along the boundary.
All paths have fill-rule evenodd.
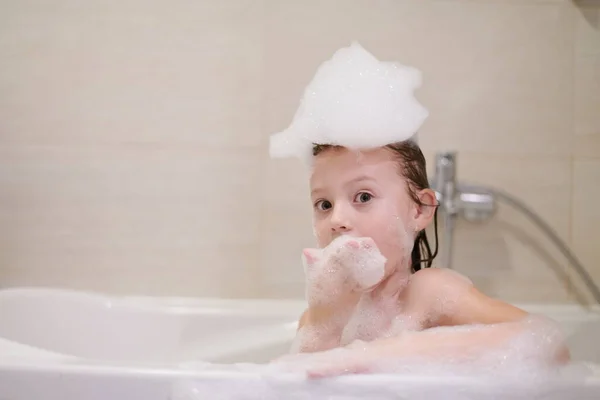
<path id="1" fill-rule="evenodd" d="M 357 1 L 343 15 L 340 4 L 268 3 L 266 132 L 285 128 L 318 65 L 358 40 L 380 59 L 422 69 L 426 148 L 570 154 L 569 4 Z"/>

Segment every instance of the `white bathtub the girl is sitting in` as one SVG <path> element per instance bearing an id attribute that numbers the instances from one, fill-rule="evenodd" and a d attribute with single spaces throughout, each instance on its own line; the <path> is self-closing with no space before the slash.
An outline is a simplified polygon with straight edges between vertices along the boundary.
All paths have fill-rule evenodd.
<path id="1" fill-rule="evenodd" d="M 262 368 L 288 350 L 303 301 L 5 289 L 0 291 L 0 398 L 479 399 L 498 393 L 600 398 L 600 374 L 593 372 L 600 365 L 600 310 L 519 306 L 562 324 L 573 359 L 592 366 L 585 376 L 575 371 L 535 393 L 528 382 L 493 378 L 360 375 L 307 382 Z"/>

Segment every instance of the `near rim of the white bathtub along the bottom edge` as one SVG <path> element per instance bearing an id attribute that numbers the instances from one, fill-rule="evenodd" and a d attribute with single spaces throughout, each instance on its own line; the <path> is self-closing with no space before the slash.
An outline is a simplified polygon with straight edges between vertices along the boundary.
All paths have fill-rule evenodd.
<path id="1" fill-rule="evenodd" d="M 3 399 L 444 399 L 597 400 L 600 379 L 531 382 L 496 377 L 358 375 L 308 381 L 299 375 L 260 373 L 226 366 L 189 370 L 69 363 L 0 365 Z"/>

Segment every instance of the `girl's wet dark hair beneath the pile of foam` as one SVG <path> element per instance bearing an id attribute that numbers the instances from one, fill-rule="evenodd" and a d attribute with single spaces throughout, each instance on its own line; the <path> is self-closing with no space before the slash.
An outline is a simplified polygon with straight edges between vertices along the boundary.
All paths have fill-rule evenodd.
<path id="1" fill-rule="evenodd" d="M 313 144 L 313 156 L 317 156 L 327 149 L 341 148 L 335 145 Z M 437 204 L 424 204 L 417 192 L 429 188 L 427 179 L 427 165 L 425 156 L 421 148 L 412 140 L 396 142 L 385 146 L 398 159 L 400 165 L 400 175 L 407 181 L 407 191 L 410 198 L 417 204 L 425 207 L 435 207 L 434 214 L 434 235 L 435 235 L 435 251 L 431 251 L 429 239 L 425 229 L 417 232 L 415 243 L 411 253 L 411 271 L 417 272 L 421 268 L 429 268 L 433 260 L 437 256 L 438 233 L 437 233 Z"/>

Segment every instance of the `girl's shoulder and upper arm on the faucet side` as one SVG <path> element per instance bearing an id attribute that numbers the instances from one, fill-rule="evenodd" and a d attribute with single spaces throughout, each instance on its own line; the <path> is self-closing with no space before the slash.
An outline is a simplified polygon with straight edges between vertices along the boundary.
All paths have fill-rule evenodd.
<path id="1" fill-rule="evenodd" d="M 527 313 L 480 292 L 466 276 L 449 269 L 427 268 L 409 285 L 411 304 L 432 316 L 431 324 L 492 324 L 521 319 Z"/>

